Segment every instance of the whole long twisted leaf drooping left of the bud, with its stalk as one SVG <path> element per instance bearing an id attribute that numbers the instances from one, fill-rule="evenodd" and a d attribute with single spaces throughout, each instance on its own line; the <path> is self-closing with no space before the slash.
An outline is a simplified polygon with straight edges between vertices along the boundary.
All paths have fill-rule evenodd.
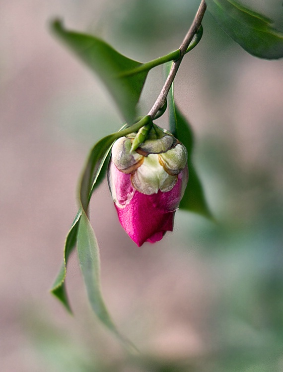
<path id="1" fill-rule="evenodd" d="M 101 171 L 102 165 L 105 162 L 114 141 L 133 131 L 139 130 L 143 125 L 147 124 L 149 120 L 150 117 L 143 117 L 138 123 L 126 127 L 119 132 L 110 134 L 98 141 L 92 148 L 87 159 L 79 190 L 82 215 L 77 233 L 77 252 L 89 302 L 93 311 L 103 324 L 130 350 L 133 348 L 135 349 L 134 345 L 132 345 L 117 330 L 103 300 L 100 289 L 99 247 L 94 231 L 87 217 L 87 208 L 94 186 L 97 182 L 98 174 Z"/>

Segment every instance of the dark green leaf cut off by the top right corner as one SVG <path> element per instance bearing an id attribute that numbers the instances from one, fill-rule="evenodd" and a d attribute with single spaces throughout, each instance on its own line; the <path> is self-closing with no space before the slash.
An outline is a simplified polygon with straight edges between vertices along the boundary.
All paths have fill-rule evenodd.
<path id="1" fill-rule="evenodd" d="M 272 21 L 234 0 L 206 0 L 208 10 L 220 27 L 253 56 L 265 59 L 283 57 L 283 33 Z"/>

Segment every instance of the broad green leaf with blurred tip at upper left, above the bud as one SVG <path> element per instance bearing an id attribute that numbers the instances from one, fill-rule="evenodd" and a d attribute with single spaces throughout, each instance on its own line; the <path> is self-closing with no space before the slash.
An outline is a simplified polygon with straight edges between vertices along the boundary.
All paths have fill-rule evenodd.
<path id="1" fill-rule="evenodd" d="M 94 36 L 66 30 L 59 20 L 52 23 L 52 30 L 81 61 L 99 75 L 125 120 L 133 123 L 136 106 L 150 68 L 125 76 L 128 71 L 142 66 L 142 63 L 123 56 Z"/>

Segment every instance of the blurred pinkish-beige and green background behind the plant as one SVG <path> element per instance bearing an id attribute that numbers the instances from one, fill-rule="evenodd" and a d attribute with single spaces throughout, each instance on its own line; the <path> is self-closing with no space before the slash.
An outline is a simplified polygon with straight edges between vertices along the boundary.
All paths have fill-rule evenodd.
<path id="1" fill-rule="evenodd" d="M 282 1 L 243 1 L 283 31 Z M 197 0 L 0 0 L 1 372 L 283 371 L 283 62 L 250 56 L 207 12 L 175 99 L 216 219 L 178 211 L 142 248 L 104 182 L 91 217 L 105 301 L 141 351 L 129 357 L 87 303 L 76 255 L 71 317 L 49 293 L 90 146 L 122 122 L 97 78 L 49 31 L 95 33 L 141 62 L 175 50 Z M 162 86 L 149 73 L 146 114 Z M 166 115 L 157 124 L 167 126 Z"/>

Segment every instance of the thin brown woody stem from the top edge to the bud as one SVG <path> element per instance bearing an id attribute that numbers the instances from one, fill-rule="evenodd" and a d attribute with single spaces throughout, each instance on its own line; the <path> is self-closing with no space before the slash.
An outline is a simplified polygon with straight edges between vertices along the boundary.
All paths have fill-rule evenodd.
<path id="1" fill-rule="evenodd" d="M 174 81 L 174 78 L 176 76 L 178 68 L 179 68 L 179 66 L 180 66 L 180 64 L 183 60 L 183 57 L 186 54 L 187 48 L 188 48 L 189 44 L 191 43 L 191 41 L 193 40 L 193 37 L 195 36 L 195 34 L 198 32 L 199 28 L 201 27 L 202 19 L 204 17 L 206 8 L 207 8 L 207 5 L 205 3 L 205 0 L 202 0 L 201 3 L 200 3 L 199 9 L 197 11 L 197 14 L 196 14 L 196 16 L 193 20 L 193 23 L 192 23 L 187 35 L 185 36 L 185 39 L 183 40 L 183 43 L 180 45 L 180 48 L 179 48 L 180 57 L 178 58 L 178 60 L 176 60 L 172 63 L 171 70 L 170 70 L 169 75 L 168 75 L 168 77 L 167 77 L 167 79 L 166 79 L 166 81 L 163 85 L 163 88 L 161 89 L 161 92 L 160 92 L 159 96 L 157 97 L 154 105 L 152 106 L 152 108 L 150 109 L 150 111 L 147 114 L 148 116 L 151 117 L 151 119 L 153 119 L 155 117 L 158 110 L 160 110 L 160 108 L 164 105 L 164 103 L 166 101 L 166 97 L 167 97 L 168 92 L 170 90 L 170 87 L 171 87 L 171 85 Z"/>

